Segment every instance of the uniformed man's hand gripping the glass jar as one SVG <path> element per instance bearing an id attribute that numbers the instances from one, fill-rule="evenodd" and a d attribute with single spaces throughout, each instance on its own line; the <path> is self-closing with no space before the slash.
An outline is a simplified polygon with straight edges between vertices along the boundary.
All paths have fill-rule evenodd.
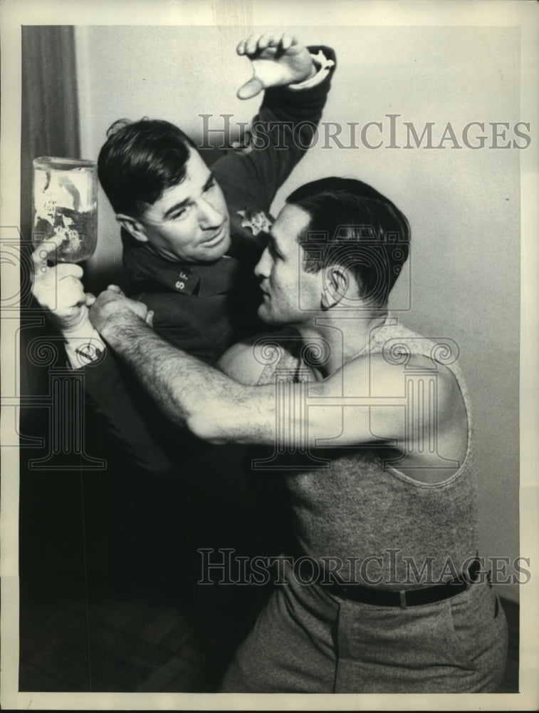
<path id="1" fill-rule="evenodd" d="M 69 334 L 89 325 L 88 307 L 95 302 L 95 297 L 84 292 L 80 282 L 82 267 L 69 262 L 59 262 L 53 267 L 47 265 L 62 240 L 61 236 L 52 237 L 33 251 L 32 291 L 41 307 L 48 309 L 56 327 L 63 334 Z"/>

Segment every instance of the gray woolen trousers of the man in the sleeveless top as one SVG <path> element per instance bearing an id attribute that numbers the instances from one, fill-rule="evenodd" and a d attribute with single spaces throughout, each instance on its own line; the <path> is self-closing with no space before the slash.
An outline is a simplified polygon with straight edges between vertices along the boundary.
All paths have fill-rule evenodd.
<path id="1" fill-rule="evenodd" d="M 501 682 L 507 622 L 488 583 L 402 609 L 343 600 L 286 570 L 222 692 L 471 693 Z"/>

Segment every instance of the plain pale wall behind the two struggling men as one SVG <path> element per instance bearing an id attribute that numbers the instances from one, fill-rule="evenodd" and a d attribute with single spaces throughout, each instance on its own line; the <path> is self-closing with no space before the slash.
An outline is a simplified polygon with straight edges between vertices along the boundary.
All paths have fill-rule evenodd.
<path id="1" fill-rule="evenodd" d="M 249 28 L 250 32 L 252 28 Z M 290 28 L 287 28 L 290 30 Z M 389 113 L 419 134 L 434 122 L 438 145 L 448 122 L 459 143 L 464 125 L 486 123 L 486 148 L 330 148 L 319 137 L 273 205 L 276 215 L 295 186 L 323 175 L 350 175 L 371 183 L 399 205 L 412 226 L 412 260 L 399 279 L 392 306 L 399 319 L 429 337 L 459 345 L 471 391 L 476 468 L 485 556 L 513 560 L 518 548 L 518 364 L 520 196 L 517 148 L 493 144 L 489 122 L 510 124 L 517 138 L 518 29 L 466 27 L 294 28 L 309 44 L 337 52 L 337 72 L 323 121 L 382 122 Z M 242 102 L 236 90 L 250 76 L 235 53 L 248 34 L 241 27 L 77 27 L 82 155 L 97 158 L 108 126 L 142 116 L 177 123 L 199 142 L 202 119 L 219 113 L 247 121 L 259 99 Z M 525 130 L 524 128 L 522 130 Z M 348 128 L 341 140 L 349 145 Z M 471 138 L 479 130 L 471 131 Z M 368 138 L 379 139 L 376 128 Z M 518 139 L 520 145 L 524 141 Z M 99 204 L 99 245 L 90 279 L 120 270 L 120 238 L 112 209 Z M 410 303 L 410 304 L 409 304 Z M 525 553 L 522 553 L 525 555 Z M 502 588 L 517 597 L 516 586 Z"/>

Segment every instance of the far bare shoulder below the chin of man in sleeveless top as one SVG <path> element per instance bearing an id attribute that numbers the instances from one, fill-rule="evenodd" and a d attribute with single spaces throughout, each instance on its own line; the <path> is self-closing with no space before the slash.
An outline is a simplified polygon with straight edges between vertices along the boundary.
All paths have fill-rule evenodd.
<path id="1" fill-rule="evenodd" d="M 293 337 L 295 334 L 295 339 Z M 230 347 L 216 366 L 241 384 L 259 384 L 263 371 L 276 364 L 283 352 L 293 350 L 299 337 L 291 329 L 256 334 Z"/>

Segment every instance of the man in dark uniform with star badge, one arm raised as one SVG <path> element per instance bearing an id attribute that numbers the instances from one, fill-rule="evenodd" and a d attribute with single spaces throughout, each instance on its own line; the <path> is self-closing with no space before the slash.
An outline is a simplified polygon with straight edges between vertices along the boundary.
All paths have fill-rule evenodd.
<path id="1" fill-rule="evenodd" d="M 174 125 L 122 120 L 110 128 L 98 161 L 100 182 L 122 226 L 127 291 L 153 312 L 160 336 L 208 364 L 261 329 L 253 267 L 265 247 L 271 202 L 310 145 L 335 68 L 333 51 L 305 48 L 286 35 L 251 36 L 237 51 L 253 64 L 253 78 L 239 97 L 265 90 L 251 124 L 251 145 L 229 151 L 210 170 Z M 69 287 L 78 290 L 81 275 L 76 265 L 38 270 L 34 294 L 47 304 L 51 287 L 56 299 L 58 276 L 62 300 Z M 185 582 L 189 558 L 198 574 L 197 547 L 250 546 L 252 528 L 258 529 L 241 476 L 244 450 L 230 447 L 223 453 L 187 431 L 178 434 L 98 334 L 92 335 L 85 306 L 91 298 L 81 291 L 75 301 L 80 309 L 62 323 L 63 334 L 86 334 L 93 341 L 78 351 L 67 344 L 68 357 L 74 368 L 84 369 L 93 423 L 102 429 L 103 422 L 114 436 L 105 504 L 115 524 L 106 537 L 114 543 L 109 549 L 116 560 L 122 542 L 127 548 L 126 564 L 115 578 L 125 586 L 127 568 L 140 570 L 145 579 L 166 571 L 167 578 L 179 575 Z M 133 558 L 138 566 L 128 564 Z M 239 600 L 234 593 L 229 608 L 249 605 L 245 597 L 243 605 Z M 239 631 L 234 611 L 219 615 L 228 606 L 212 601 L 201 607 L 210 620 L 212 646 L 234 646 L 234 632 L 215 632 L 224 618 Z"/>

